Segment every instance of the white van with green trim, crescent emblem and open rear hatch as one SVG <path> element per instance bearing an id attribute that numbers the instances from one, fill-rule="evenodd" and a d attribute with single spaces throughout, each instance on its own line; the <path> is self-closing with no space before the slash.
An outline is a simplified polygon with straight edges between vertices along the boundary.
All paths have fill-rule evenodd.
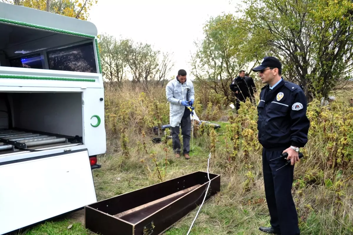
<path id="1" fill-rule="evenodd" d="M 97 46 L 88 21 L 0 2 L 0 234 L 97 201 Z"/>

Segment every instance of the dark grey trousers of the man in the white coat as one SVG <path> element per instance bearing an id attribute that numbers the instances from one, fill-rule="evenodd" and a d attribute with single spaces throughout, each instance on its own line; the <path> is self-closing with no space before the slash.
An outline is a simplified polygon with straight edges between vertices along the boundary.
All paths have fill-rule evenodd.
<path id="1" fill-rule="evenodd" d="M 180 122 L 181 127 L 181 134 L 183 135 L 183 153 L 186 154 L 190 152 L 190 139 L 191 139 L 191 119 L 190 119 L 190 112 L 185 112 L 183 118 Z M 179 140 L 179 132 L 180 127 L 172 127 L 172 137 L 173 137 L 173 151 L 175 153 L 180 154 L 180 140 Z"/>

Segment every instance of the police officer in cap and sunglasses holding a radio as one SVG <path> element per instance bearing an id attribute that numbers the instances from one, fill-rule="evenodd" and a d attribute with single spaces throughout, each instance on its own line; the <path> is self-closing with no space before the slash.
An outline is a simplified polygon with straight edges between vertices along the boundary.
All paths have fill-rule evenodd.
<path id="1" fill-rule="evenodd" d="M 275 57 L 264 57 L 252 69 L 259 72 L 262 83 L 258 103 L 258 140 L 263 146 L 262 166 L 265 195 L 270 212 L 271 227 L 260 227 L 265 233 L 299 235 L 298 215 L 291 194 L 294 164 L 298 152 L 307 143 L 310 122 L 306 117 L 306 98 L 303 90 L 283 80 L 282 65 Z M 280 157 L 288 153 L 287 165 Z"/>

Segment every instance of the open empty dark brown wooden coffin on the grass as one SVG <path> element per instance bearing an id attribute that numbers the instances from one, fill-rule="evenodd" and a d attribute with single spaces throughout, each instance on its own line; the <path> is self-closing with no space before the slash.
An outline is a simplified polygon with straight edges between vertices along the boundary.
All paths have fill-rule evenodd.
<path id="1" fill-rule="evenodd" d="M 206 200 L 220 191 L 221 176 L 209 174 Z M 200 205 L 209 184 L 207 172 L 124 193 L 85 206 L 85 227 L 101 235 L 160 235 Z"/>

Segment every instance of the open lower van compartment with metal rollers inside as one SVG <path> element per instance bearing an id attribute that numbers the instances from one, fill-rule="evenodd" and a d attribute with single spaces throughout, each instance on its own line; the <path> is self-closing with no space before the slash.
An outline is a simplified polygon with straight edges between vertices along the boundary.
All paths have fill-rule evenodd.
<path id="1" fill-rule="evenodd" d="M 82 143 L 82 93 L 0 93 L 0 157 Z"/>

